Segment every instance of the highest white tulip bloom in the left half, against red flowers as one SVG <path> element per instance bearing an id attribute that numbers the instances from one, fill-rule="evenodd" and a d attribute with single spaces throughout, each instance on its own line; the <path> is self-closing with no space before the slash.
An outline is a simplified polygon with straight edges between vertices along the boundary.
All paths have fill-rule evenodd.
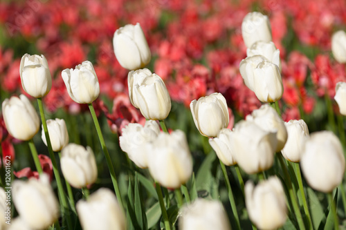
<path id="1" fill-rule="evenodd" d="M 147 40 L 139 23 L 128 24 L 114 32 L 113 48 L 120 66 L 128 70 L 138 70 L 150 62 Z"/>

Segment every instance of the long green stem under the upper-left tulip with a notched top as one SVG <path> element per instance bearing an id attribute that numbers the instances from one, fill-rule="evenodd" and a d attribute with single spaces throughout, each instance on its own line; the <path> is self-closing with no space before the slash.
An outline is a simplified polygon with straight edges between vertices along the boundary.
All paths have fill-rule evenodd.
<path id="1" fill-rule="evenodd" d="M 69 213 L 69 207 L 67 205 L 67 201 L 66 201 L 67 199 L 66 199 L 66 195 L 64 193 L 64 189 L 62 186 L 62 180 L 60 178 L 59 170 L 57 169 L 57 162 L 55 160 L 55 155 L 53 153 L 51 139 L 49 138 L 46 117 L 44 117 L 44 107 L 42 103 L 42 97 L 37 98 L 37 104 L 39 104 L 39 114 L 41 115 L 44 135 L 46 135 L 49 157 L 51 157 L 53 172 L 54 172 L 55 180 L 57 182 L 57 191 L 60 194 L 60 201 L 62 202 L 62 214 L 66 215 L 68 229 L 72 229 L 72 224 L 71 224 L 72 222 L 71 222 L 71 216 Z"/>

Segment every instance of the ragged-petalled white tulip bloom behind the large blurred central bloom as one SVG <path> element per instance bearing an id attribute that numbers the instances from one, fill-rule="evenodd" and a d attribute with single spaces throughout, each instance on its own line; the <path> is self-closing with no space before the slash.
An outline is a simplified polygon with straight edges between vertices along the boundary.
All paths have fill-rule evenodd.
<path id="1" fill-rule="evenodd" d="M 119 137 L 120 148 L 127 153 L 129 159 L 138 167 L 147 168 L 146 144 L 156 139 L 160 133 L 157 122 L 148 120 L 143 127 L 140 124 L 130 123 L 122 128 L 122 136 Z"/>

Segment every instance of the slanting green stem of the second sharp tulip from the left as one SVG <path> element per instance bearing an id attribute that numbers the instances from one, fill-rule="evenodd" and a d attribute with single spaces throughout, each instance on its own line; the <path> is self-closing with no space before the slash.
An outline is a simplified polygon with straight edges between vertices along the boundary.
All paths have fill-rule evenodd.
<path id="1" fill-rule="evenodd" d="M 98 139 L 100 140 L 102 150 L 104 153 L 104 157 L 106 157 L 106 160 L 107 160 L 109 173 L 111 174 L 111 181 L 113 182 L 114 191 L 116 191 L 116 197 L 118 199 L 120 208 L 122 210 L 124 210 L 124 206 L 122 204 L 122 198 L 120 195 L 120 189 L 118 186 L 118 181 L 116 180 L 116 172 L 114 171 L 113 164 L 111 163 L 111 156 L 109 155 L 106 143 L 104 142 L 104 139 L 103 139 L 100 124 L 98 123 L 98 117 L 96 117 L 96 113 L 95 113 L 95 109 L 93 108 L 93 104 L 90 103 L 90 104 L 88 104 L 88 106 L 89 106 L 89 110 L 91 113 L 91 117 L 93 117 L 93 123 L 95 124 L 96 131 L 98 132 Z"/>

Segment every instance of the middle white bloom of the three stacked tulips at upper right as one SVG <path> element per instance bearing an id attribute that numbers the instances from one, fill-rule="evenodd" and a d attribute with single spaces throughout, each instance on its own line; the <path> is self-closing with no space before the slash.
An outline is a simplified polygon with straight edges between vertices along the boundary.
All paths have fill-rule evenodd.
<path id="1" fill-rule="evenodd" d="M 281 70 L 280 50 L 276 48 L 273 41 L 256 41 L 251 48 L 246 50 L 246 55 L 248 57 L 262 55 L 273 64 L 277 65 Z"/>

